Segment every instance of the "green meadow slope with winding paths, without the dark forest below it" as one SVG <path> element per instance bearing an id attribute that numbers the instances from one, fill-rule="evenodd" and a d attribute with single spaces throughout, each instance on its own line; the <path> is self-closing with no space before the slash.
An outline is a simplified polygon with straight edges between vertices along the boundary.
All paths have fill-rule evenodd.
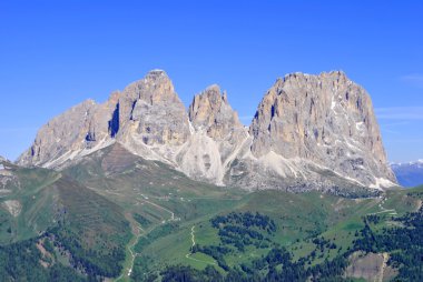
<path id="1" fill-rule="evenodd" d="M 293 263 L 315 271 L 348 254 L 365 226 L 365 216 L 380 214 L 382 230 L 392 225 L 392 216 L 412 212 L 420 204 L 404 190 L 347 199 L 318 192 L 246 193 L 217 188 L 193 181 L 160 162 L 134 157 L 118 144 L 89 155 L 65 173 L 125 209 L 134 235 L 120 280 L 160 280 L 161 270 L 170 265 L 196 271 L 213 268 L 230 275 L 235 270 L 250 269 L 255 260 L 277 248 L 286 250 Z M 232 213 L 258 213 L 272 220 L 276 229 L 268 233 L 239 223 L 213 225 L 216 216 Z M 227 230 L 243 234 L 222 235 Z M 230 238 L 244 245 L 228 243 Z M 267 272 L 263 270 L 263 274 Z"/>

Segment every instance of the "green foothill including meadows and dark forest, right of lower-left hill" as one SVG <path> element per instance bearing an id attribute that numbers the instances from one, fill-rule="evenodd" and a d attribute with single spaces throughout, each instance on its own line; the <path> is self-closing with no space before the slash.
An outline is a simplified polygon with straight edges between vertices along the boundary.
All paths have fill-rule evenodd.
<path id="1" fill-rule="evenodd" d="M 407 255 L 423 241 L 404 245 L 402 232 L 409 230 L 403 228 L 407 216 L 420 226 L 421 220 L 409 212 L 423 211 L 422 189 L 353 199 L 316 191 L 247 192 L 194 181 L 118 142 L 61 173 L 125 210 L 134 238 L 121 275 L 131 281 L 269 281 L 265 276 L 277 272 L 276 281 L 293 273 L 299 276 L 289 281 L 309 276 L 373 281 L 419 273 L 413 265 L 420 256 L 409 263 L 414 256 Z M 383 233 L 387 228 L 397 229 Z M 372 234 L 393 246 L 384 249 Z M 387 263 L 390 259 L 393 263 Z M 272 271 L 275 265 L 277 271 Z"/>

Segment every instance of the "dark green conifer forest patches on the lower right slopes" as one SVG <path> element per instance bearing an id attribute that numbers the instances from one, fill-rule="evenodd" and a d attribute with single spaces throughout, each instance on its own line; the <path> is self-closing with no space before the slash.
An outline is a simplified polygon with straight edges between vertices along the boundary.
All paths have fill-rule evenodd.
<path id="1" fill-rule="evenodd" d="M 356 251 L 364 252 L 388 252 L 390 265 L 399 270 L 399 275 L 394 281 L 423 281 L 423 208 L 417 212 L 406 213 L 404 216 L 393 219 L 399 224 L 384 228 L 380 231 L 372 229 L 381 218 L 370 214 L 363 218 L 365 226 L 356 233 L 357 239 L 353 245 L 335 259 L 325 259 L 322 263 L 312 264 L 316 251 L 336 249 L 337 246 L 324 238 L 314 238 L 315 251 L 307 256 L 294 261 L 292 254 L 282 246 L 273 248 L 267 255 L 253 260 L 250 263 L 243 263 L 239 266 L 228 266 L 225 262 L 225 254 L 233 252 L 235 246 L 226 238 L 238 238 L 243 245 L 245 240 L 264 240 L 255 232 L 247 231 L 248 228 L 259 228 L 262 230 L 276 230 L 274 222 L 265 215 L 252 213 L 230 213 L 226 216 L 219 215 L 210 220 L 214 228 L 219 230 L 222 245 L 200 246 L 195 245 L 193 252 L 203 252 L 213 256 L 218 265 L 226 271 L 223 275 L 213 265 L 199 271 L 185 265 L 169 265 L 160 275 L 165 281 L 353 281 L 345 278 L 344 271 L 348 265 L 348 256 Z M 228 228 L 234 226 L 238 228 Z M 244 229 L 245 228 L 245 229 Z M 260 233 L 258 233 L 260 234 Z M 248 242 L 248 241 L 247 241 Z M 153 279 L 150 276 L 150 279 Z"/>

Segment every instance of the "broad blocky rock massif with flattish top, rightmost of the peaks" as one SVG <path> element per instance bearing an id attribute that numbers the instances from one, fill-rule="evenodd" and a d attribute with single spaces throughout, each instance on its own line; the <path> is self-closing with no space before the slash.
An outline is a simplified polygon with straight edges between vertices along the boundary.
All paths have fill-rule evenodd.
<path id="1" fill-rule="evenodd" d="M 367 92 L 343 72 L 278 79 L 249 128 L 252 153 L 311 161 L 364 185 L 396 182 Z"/>

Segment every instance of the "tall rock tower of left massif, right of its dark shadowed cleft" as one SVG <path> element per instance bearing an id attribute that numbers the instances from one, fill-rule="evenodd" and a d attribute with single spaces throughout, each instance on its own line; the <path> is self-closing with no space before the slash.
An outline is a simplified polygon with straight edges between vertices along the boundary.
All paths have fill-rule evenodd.
<path id="1" fill-rule="evenodd" d="M 147 145 L 180 145 L 187 141 L 188 115 L 167 74 L 150 71 L 120 94 L 121 135 L 136 134 Z"/>

